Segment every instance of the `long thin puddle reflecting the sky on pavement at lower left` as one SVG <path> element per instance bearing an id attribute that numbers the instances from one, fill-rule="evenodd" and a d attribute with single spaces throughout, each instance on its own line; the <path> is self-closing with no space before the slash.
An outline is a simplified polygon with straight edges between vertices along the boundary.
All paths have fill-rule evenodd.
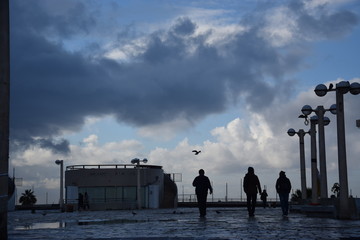
<path id="1" fill-rule="evenodd" d="M 32 223 L 15 227 L 15 230 L 34 230 L 34 229 L 56 229 L 65 228 L 74 225 L 94 225 L 94 224 L 125 224 L 125 223 L 142 223 L 149 220 L 130 220 L 130 219 L 89 219 L 69 222 L 48 222 L 48 223 Z"/>

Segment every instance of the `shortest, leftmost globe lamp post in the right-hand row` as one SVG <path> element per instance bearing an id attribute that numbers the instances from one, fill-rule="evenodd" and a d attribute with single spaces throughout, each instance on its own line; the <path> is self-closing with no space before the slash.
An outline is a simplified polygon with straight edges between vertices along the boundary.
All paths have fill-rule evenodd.
<path id="1" fill-rule="evenodd" d="M 297 134 L 299 136 L 300 143 L 300 176 L 301 176 L 301 198 L 305 200 L 307 198 L 306 193 L 306 168 L 305 168 L 305 146 L 304 146 L 304 136 L 306 133 L 304 129 L 299 129 L 299 131 L 295 131 L 293 128 L 288 130 L 289 136 L 294 136 Z"/>

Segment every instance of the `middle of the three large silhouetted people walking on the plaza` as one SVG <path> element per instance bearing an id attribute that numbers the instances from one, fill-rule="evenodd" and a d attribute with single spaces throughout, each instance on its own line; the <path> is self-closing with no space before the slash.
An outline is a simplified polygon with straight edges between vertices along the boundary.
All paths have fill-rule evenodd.
<path id="1" fill-rule="evenodd" d="M 244 192 L 246 193 L 247 209 L 249 217 L 255 215 L 257 193 L 261 194 L 259 178 L 255 175 L 254 168 L 249 167 L 244 177 Z"/>

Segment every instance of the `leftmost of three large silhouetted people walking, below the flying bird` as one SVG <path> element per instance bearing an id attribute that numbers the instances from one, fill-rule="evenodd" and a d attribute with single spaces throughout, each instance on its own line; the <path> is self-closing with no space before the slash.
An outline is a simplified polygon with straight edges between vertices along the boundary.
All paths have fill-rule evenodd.
<path id="1" fill-rule="evenodd" d="M 200 217 L 205 217 L 208 190 L 210 190 L 210 194 L 212 194 L 213 189 L 211 187 L 210 180 L 207 176 L 205 176 L 205 171 L 203 169 L 199 170 L 199 176 L 194 179 L 193 186 L 195 187 L 195 193 L 198 200 Z"/>

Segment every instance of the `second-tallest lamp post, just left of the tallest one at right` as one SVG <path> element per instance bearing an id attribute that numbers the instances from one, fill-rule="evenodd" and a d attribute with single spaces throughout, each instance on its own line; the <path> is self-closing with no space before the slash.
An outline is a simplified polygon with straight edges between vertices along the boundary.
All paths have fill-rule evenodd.
<path id="1" fill-rule="evenodd" d="M 309 105 L 303 106 L 301 112 L 307 117 L 311 112 L 315 112 L 318 117 L 318 129 L 319 129 L 319 158 L 320 158 L 320 197 L 322 199 L 328 198 L 328 186 L 327 186 L 327 171 L 326 171 L 326 151 L 325 151 L 325 129 L 324 127 L 329 125 L 330 119 L 324 117 L 326 111 L 334 111 L 336 105 L 333 104 L 330 109 L 325 109 L 323 106 L 318 106 L 316 109 L 312 109 Z"/>

